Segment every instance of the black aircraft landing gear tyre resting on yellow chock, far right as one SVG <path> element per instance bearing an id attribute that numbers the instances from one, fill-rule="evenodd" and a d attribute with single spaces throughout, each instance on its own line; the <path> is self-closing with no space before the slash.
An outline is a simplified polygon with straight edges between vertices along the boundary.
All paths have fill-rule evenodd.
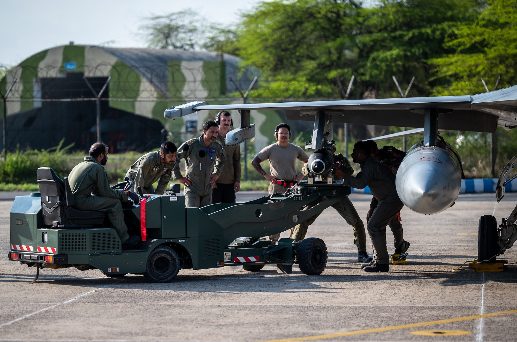
<path id="1" fill-rule="evenodd" d="M 497 221 L 492 215 L 479 217 L 478 262 L 495 262 L 499 255 Z"/>

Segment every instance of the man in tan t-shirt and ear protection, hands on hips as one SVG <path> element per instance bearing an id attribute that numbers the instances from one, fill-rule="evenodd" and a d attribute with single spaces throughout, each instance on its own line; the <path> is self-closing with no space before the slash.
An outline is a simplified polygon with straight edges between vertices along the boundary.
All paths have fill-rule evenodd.
<path id="1" fill-rule="evenodd" d="M 303 174 L 298 174 L 296 171 L 296 159 L 307 163 L 309 157 L 301 147 L 289 142 L 290 137 L 291 127 L 287 123 L 280 123 L 275 127 L 275 138 L 278 142 L 264 147 L 251 161 L 255 170 L 271 182 L 268 188 L 269 194 L 276 194 L 277 192 L 283 194 L 292 183 L 303 179 Z M 271 175 L 267 174 L 260 165 L 266 159 L 269 159 Z M 281 184 L 278 184 L 279 182 Z M 293 228 L 289 231 L 289 237 L 292 234 Z M 280 234 L 271 235 L 267 239 L 277 242 L 280 239 Z"/>

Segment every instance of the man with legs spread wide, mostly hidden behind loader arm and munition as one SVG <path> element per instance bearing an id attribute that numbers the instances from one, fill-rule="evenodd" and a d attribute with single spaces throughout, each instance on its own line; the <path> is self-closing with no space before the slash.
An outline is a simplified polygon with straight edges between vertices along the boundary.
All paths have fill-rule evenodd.
<path id="1" fill-rule="evenodd" d="M 336 152 L 336 147 L 330 150 L 332 153 Z M 350 162 L 340 154 L 334 154 L 334 162 L 336 165 L 334 168 L 340 168 L 345 174 L 353 175 L 354 169 L 350 166 Z M 339 163 L 339 164 L 337 164 Z M 339 166 L 338 166 L 339 165 Z M 301 169 L 301 173 L 305 176 L 309 175 L 309 170 L 307 167 L 307 163 L 305 163 Z M 325 176 L 318 176 L 320 180 L 327 180 Z M 341 180 L 341 177 L 334 176 L 334 180 Z M 372 257 L 370 257 L 366 251 L 366 231 L 364 231 L 364 224 L 362 223 L 361 217 L 357 213 L 352 201 L 346 196 L 344 199 L 340 200 L 336 204 L 332 205 L 332 208 L 336 209 L 337 212 L 345 219 L 346 223 L 352 226 L 352 230 L 354 231 L 354 243 L 357 246 L 357 261 L 358 262 L 369 262 L 372 261 Z M 311 224 L 316 221 L 317 217 L 320 216 L 321 213 L 317 213 L 316 215 L 310 217 L 310 219 L 303 221 L 294 227 L 292 239 L 295 241 L 305 239 L 305 235 L 307 234 L 307 229 Z"/>

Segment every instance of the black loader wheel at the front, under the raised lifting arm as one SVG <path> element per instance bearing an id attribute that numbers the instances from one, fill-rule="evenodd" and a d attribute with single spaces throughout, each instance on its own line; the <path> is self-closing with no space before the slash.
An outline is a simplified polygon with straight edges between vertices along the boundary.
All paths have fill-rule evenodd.
<path id="1" fill-rule="evenodd" d="M 327 266 L 327 246 L 318 238 L 302 240 L 296 248 L 296 259 L 304 274 L 321 274 Z"/>

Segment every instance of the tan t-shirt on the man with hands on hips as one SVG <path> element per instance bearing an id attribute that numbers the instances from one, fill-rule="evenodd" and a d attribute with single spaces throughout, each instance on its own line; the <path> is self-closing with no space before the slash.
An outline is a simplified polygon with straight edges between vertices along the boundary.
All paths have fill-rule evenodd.
<path id="1" fill-rule="evenodd" d="M 280 146 L 278 142 L 264 147 L 257 153 L 257 157 L 262 161 L 269 159 L 271 175 L 283 180 L 292 180 L 298 175 L 296 172 L 297 158 L 301 161 L 309 158 L 301 147 L 291 143 L 288 143 L 287 146 Z"/>

